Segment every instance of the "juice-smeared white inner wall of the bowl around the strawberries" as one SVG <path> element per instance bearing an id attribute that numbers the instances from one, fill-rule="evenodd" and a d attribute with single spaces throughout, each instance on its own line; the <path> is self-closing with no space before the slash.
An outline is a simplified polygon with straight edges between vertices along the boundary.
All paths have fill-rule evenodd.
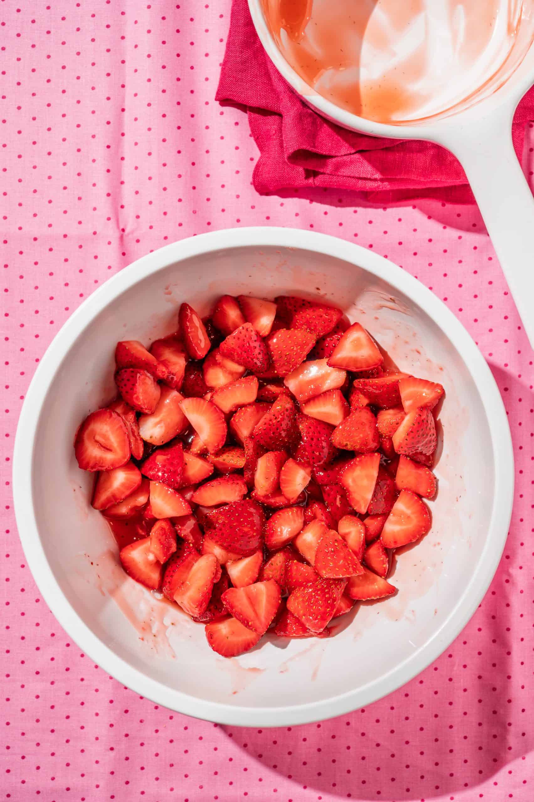
<path id="1" fill-rule="evenodd" d="M 72 449 L 79 422 L 114 396 L 116 341 L 147 344 L 169 334 L 182 300 L 206 314 L 223 292 L 320 295 L 361 321 L 403 371 L 446 388 L 439 492 L 430 502 L 434 524 L 415 548 L 397 556 L 391 580 L 397 595 L 357 606 L 338 620 L 333 638 L 267 638 L 231 660 L 210 650 L 203 626 L 123 573 L 112 535 L 89 505 L 92 477 L 79 470 Z M 377 689 L 371 695 L 380 695 L 393 668 L 440 637 L 490 527 L 491 435 L 458 351 L 407 295 L 350 261 L 304 248 L 230 247 L 173 261 L 142 277 L 72 342 L 43 401 L 37 431 L 32 491 L 51 571 L 84 624 L 128 666 L 161 683 L 159 701 L 170 707 L 175 691 L 252 711 L 307 706 L 367 686 Z"/>

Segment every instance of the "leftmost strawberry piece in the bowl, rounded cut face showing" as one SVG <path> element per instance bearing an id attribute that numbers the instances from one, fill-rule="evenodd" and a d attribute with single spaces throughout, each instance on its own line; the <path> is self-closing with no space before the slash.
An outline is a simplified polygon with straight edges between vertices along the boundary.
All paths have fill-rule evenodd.
<path id="1" fill-rule="evenodd" d="M 111 409 L 92 412 L 76 432 L 74 452 L 84 471 L 110 471 L 127 463 L 130 441 L 122 416 Z"/>

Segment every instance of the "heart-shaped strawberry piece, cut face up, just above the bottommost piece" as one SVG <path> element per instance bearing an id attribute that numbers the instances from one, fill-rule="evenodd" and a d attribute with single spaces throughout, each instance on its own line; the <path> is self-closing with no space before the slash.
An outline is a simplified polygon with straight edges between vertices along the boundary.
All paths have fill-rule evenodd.
<path id="1" fill-rule="evenodd" d="M 267 632 L 280 606 L 280 586 L 274 579 L 254 582 L 243 588 L 228 588 L 222 594 L 226 610 L 247 630 L 259 635 Z"/>

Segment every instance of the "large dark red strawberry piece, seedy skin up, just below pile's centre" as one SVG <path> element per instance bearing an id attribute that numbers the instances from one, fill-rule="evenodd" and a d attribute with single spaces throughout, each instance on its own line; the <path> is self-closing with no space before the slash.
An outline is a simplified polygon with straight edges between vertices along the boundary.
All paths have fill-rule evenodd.
<path id="1" fill-rule="evenodd" d="M 251 499 L 214 509 L 209 536 L 223 549 L 249 557 L 263 545 L 263 509 Z"/>

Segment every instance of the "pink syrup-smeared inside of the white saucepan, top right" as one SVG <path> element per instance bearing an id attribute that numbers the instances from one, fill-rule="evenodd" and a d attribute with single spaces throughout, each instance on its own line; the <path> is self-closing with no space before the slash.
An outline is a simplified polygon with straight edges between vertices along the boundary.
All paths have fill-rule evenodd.
<path id="1" fill-rule="evenodd" d="M 389 124 L 495 91 L 532 43 L 532 0 L 263 0 L 263 10 L 310 87 Z"/>

